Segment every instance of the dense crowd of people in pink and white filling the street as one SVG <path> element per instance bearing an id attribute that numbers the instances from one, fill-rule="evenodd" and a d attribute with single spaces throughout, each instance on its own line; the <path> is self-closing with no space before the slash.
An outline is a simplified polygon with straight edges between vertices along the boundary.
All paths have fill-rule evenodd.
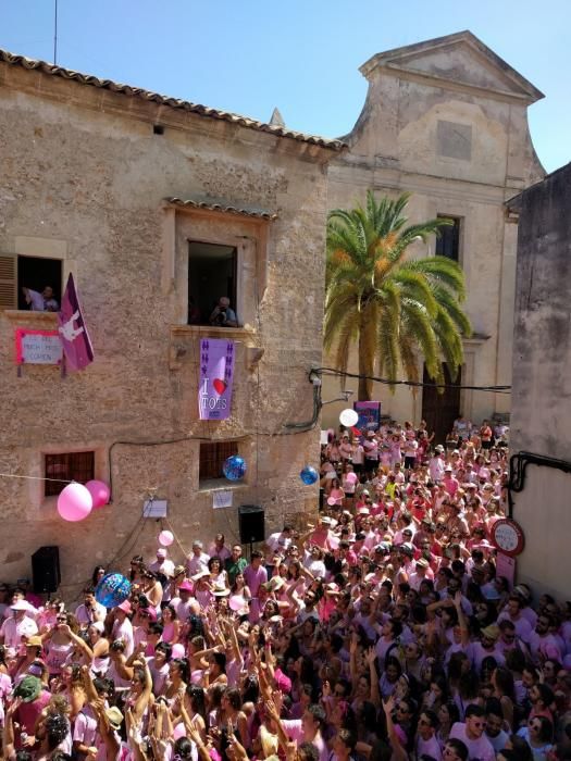
<path id="1" fill-rule="evenodd" d="M 570 759 L 571 602 L 497 572 L 507 433 L 332 432 L 314 524 L 136 556 L 109 610 L 102 566 L 0 585 L 2 758 Z"/>

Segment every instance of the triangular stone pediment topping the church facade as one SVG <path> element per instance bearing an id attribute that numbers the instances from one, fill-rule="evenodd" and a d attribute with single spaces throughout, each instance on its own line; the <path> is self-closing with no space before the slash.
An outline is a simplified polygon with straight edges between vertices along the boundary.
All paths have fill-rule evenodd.
<path id="1" fill-rule="evenodd" d="M 544 97 L 471 32 L 377 53 L 360 68 L 368 79 L 378 70 L 397 76 L 432 79 L 435 86 L 468 87 L 527 103 Z"/>

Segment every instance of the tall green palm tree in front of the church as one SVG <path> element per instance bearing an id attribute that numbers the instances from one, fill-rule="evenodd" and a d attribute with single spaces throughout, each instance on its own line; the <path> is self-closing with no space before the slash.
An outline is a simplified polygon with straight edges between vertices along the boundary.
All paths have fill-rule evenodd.
<path id="1" fill-rule="evenodd" d="M 376 200 L 363 209 L 335 209 L 327 220 L 324 345 L 335 367 L 347 371 L 357 344 L 359 399 L 370 400 L 373 382 L 363 376 L 419 382 L 418 352 L 429 375 L 443 383 L 443 361 L 451 376 L 462 364 L 462 335 L 471 334 L 460 304 L 466 296 L 461 267 L 445 257 L 406 259 L 414 241 L 438 235 L 450 220 L 407 225 L 410 194 Z M 392 386 L 392 390 L 395 386 Z"/>

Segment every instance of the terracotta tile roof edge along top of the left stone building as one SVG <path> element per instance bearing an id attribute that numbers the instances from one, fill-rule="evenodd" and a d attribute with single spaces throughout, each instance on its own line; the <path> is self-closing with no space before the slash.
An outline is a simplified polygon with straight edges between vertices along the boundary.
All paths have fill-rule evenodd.
<path id="1" fill-rule="evenodd" d="M 170 98 L 167 96 L 159 95 L 158 92 L 150 92 L 149 90 L 144 90 L 140 87 L 121 85 L 116 82 L 112 82 L 111 79 L 100 79 L 99 77 L 90 74 L 82 74 L 70 68 L 63 68 L 62 66 L 47 63 L 46 61 L 36 61 L 34 59 L 26 58 L 25 55 L 9 53 L 5 50 L 0 50 L 0 62 L 2 61 L 13 66 L 22 66 L 23 68 L 40 71 L 45 74 L 59 76 L 64 79 L 72 79 L 80 85 L 90 85 L 91 87 L 99 87 L 101 89 L 111 90 L 112 92 L 121 92 L 122 95 L 132 98 L 153 101 L 156 103 L 160 103 L 161 105 L 167 105 L 172 109 L 183 109 L 191 113 L 200 114 L 201 116 L 222 120 L 224 122 L 229 122 L 231 124 L 247 127 L 249 129 L 259 129 L 260 132 L 271 133 L 272 135 L 276 135 L 278 137 L 288 137 L 293 140 L 309 142 L 334 151 L 340 151 L 346 147 L 346 144 L 342 140 L 332 140 L 318 135 L 305 135 L 303 133 L 298 133 L 273 124 L 258 122 L 253 118 L 249 118 L 248 116 L 240 116 L 239 114 L 229 113 L 228 111 L 219 111 L 218 109 L 212 109 L 208 105 L 190 103 L 187 100 Z"/>

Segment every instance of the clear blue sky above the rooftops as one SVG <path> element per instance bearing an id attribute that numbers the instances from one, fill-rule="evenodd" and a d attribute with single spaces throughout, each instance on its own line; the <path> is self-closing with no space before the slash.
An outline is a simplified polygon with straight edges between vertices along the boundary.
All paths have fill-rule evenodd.
<path id="1" fill-rule="evenodd" d="M 0 47 L 53 60 L 54 0 L 0 0 Z M 358 67 L 470 29 L 545 93 L 530 109 L 547 171 L 571 161 L 571 0 L 59 0 L 58 63 L 336 137 L 367 91 Z"/>

